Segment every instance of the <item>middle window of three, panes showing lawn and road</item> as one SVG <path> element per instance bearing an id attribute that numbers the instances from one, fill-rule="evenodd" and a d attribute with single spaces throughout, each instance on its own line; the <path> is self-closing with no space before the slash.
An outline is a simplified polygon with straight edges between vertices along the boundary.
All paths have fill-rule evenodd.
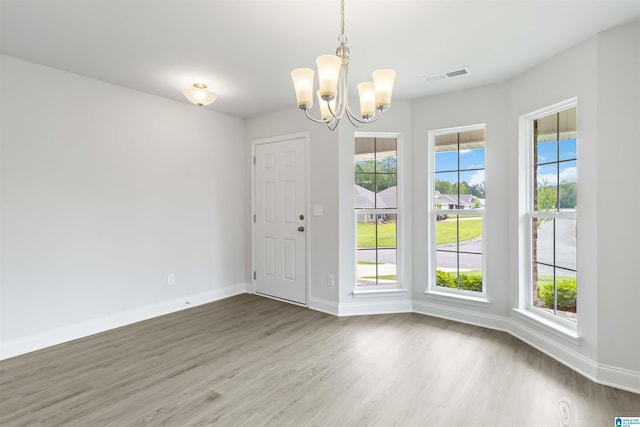
<path id="1" fill-rule="evenodd" d="M 431 289 L 478 295 L 484 292 L 485 129 L 433 131 L 430 144 Z"/>

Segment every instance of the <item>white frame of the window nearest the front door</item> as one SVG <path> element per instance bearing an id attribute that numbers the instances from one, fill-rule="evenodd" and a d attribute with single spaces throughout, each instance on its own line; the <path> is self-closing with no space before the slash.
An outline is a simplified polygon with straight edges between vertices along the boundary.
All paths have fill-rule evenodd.
<path id="1" fill-rule="evenodd" d="M 404 277 L 404 261 L 403 261 L 403 245 L 404 245 L 404 214 L 403 211 L 403 190 L 404 190 L 404 160 L 403 160 L 403 143 L 400 133 L 395 132 L 355 132 L 355 140 L 358 138 L 393 138 L 396 141 L 396 207 L 395 209 L 370 209 L 370 208 L 354 208 L 352 209 L 353 227 L 354 227 L 354 296 L 357 294 L 370 294 L 382 292 L 384 294 L 394 290 L 404 290 L 402 286 Z M 355 152 L 352 154 L 355 155 Z M 355 178 L 355 162 L 352 160 L 352 176 Z M 396 215 L 396 281 L 393 283 L 362 283 L 358 280 L 358 215 L 359 214 L 378 214 L 383 211 L 387 214 Z"/>

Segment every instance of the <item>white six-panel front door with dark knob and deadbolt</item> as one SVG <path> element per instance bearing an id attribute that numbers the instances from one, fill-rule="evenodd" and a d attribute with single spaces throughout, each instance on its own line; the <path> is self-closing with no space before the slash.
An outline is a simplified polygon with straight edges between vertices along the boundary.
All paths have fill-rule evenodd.
<path id="1" fill-rule="evenodd" d="M 255 149 L 255 291 L 307 303 L 305 139 Z"/>

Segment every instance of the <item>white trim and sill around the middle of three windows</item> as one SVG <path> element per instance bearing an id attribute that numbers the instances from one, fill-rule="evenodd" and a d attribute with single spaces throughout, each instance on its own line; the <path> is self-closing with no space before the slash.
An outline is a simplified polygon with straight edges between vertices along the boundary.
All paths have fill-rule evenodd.
<path id="1" fill-rule="evenodd" d="M 429 185 L 427 186 L 427 197 L 428 197 L 428 209 L 427 209 L 427 217 L 429 219 L 429 259 L 428 259 L 428 271 L 429 271 L 429 280 L 427 290 L 424 292 L 426 297 L 429 299 L 440 300 L 440 301 L 452 301 L 461 304 L 468 304 L 474 306 L 486 307 L 489 305 L 489 299 L 487 298 L 487 282 L 486 282 L 486 274 L 484 272 L 487 271 L 487 257 L 486 257 L 486 239 L 484 238 L 485 231 L 485 219 L 487 215 L 487 208 L 481 211 L 482 215 L 482 292 L 472 292 L 465 291 L 463 289 L 450 289 L 450 288 L 442 288 L 436 285 L 436 270 L 437 270 L 437 261 L 436 261 L 436 240 L 435 240 L 435 232 L 436 232 L 436 209 L 433 205 L 433 197 L 435 192 L 434 185 L 434 170 L 435 170 L 435 139 L 436 136 L 439 135 L 448 135 L 451 133 L 462 133 L 473 130 L 484 130 L 485 131 L 485 141 L 486 141 L 486 132 L 487 125 L 486 123 L 479 123 L 475 125 L 468 126 L 457 126 L 446 129 L 437 129 L 429 131 L 429 141 L 428 141 L 428 158 L 429 158 Z M 486 144 L 485 144 L 485 153 L 486 153 Z M 486 162 L 486 154 L 485 154 L 485 162 Z M 486 164 L 485 164 L 486 171 Z M 440 210 L 438 212 L 447 212 L 452 215 L 465 215 L 468 212 L 465 212 L 462 209 L 446 209 Z"/>

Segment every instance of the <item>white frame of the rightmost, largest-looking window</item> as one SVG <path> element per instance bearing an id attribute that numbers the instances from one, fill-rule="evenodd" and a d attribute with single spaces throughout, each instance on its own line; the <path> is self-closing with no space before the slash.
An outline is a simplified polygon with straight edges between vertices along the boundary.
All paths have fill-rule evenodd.
<path id="1" fill-rule="evenodd" d="M 578 114 L 578 99 L 570 98 L 568 100 L 559 102 L 557 104 L 550 105 L 532 113 L 523 115 L 520 117 L 520 150 L 524 150 L 524 155 L 520 156 L 520 182 L 519 186 L 519 200 L 521 204 L 520 217 L 521 217 L 521 239 L 524 241 L 524 245 L 520 245 L 520 265 L 521 271 L 519 274 L 519 309 L 517 310 L 521 315 L 529 321 L 533 321 L 535 324 L 542 325 L 559 331 L 563 337 L 570 339 L 578 339 L 578 313 L 576 312 L 575 321 L 566 319 L 558 314 L 549 313 L 548 311 L 536 307 L 533 304 L 533 292 L 534 292 L 534 280 L 533 280 L 533 221 L 534 218 L 550 218 L 550 219 L 570 219 L 578 222 L 577 207 L 575 212 L 534 212 L 534 174 L 537 165 L 534 164 L 534 121 L 547 117 L 552 114 L 557 114 L 561 111 L 576 108 L 576 116 Z M 576 118 L 577 124 L 577 118 Z M 577 129 L 576 129 L 577 134 Z M 576 141 L 578 138 L 576 137 Z M 558 141 L 559 143 L 559 141 Z M 576 144 L 576 168 L 579 165 L 579 143 Z M 524 165 L 523 162 L 524 161 Z M 558 159 L 559 161 L 559 159 Z M 524 166 L 524 167 L 522 167 Z M 522 176 L 524 174 L 524 177 Z M 559 185 L 559 183 L 558 183 Z M 576 280 L 579 283 L 579 271 L 578 263 L 579 245 L 576 241 Z M 554 265 L 554 268 L 558 266 Z M 578 288 L 579 289 L 579 288 Z M 579 295 L 579 291 L 577 291 Z"/>

